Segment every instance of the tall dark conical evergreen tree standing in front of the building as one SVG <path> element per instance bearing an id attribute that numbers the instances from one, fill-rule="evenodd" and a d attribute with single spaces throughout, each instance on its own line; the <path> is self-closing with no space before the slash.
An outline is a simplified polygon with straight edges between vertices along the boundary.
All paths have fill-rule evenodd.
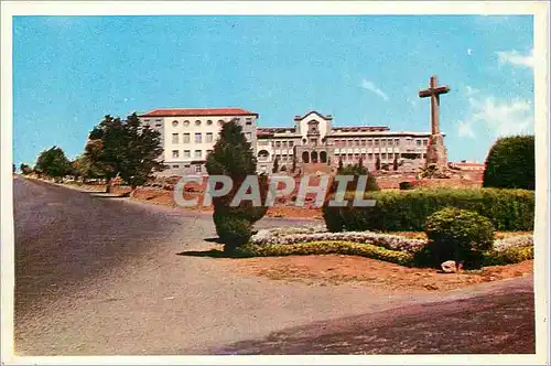
<path id="1" fill-rule="evenodd" d="M 267 207 L 255 206 L 251 201 L 241 201 L 237 206 L 230 206 L 247 176 L 258 182 L 261 202 L 268 193 L 267 176 L 256 174 L 256 159 L 251 144 L 245 138 L 242 128 L 235 120 L 223 125 L 219 138 L 213 152 L 206 161 L 209 175 L 225 175 L 231 179 L 233 187 L 226 195 L 213 197 L 213 220 L 216 233 L 226 252 L 234 251 L 247 243 L 252 235 L 252 224 L 266 214 Z M 215 186 L 215 190 L 220 186 Z"/>

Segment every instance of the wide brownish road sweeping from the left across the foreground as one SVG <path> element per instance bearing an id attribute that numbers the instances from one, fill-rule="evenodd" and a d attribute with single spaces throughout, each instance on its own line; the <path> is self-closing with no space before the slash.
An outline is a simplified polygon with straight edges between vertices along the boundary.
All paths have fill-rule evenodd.
<path id="1" fill-rule="evenodd" d="M 431 332 L 437 333 L 449 327 L 450 312 L 461 310 L 466 316 L 491 306 L 493 313 L 523 320 L 509 322 L 500 332 L 522 337 L 526 345 L 516 352 L 533 351 L 531 278 L 423 295 L 374 295 L 361 286 L 247 278 L 216 258 L 179 255 L 212 246 L 208 239 L 216 234 L 209 215 L 20 177 L 14 179 L 14 222 L 18 355 L 383 353 L 390 349 L 368 349 L 363 345 L 372 338 L 360 336 L 347 346 L 334 346 L 335 337 L 348 337 L 353 329 L 382 336 L 374 330 L 383 324 L 395 337 L 395 351 L 408 352 L 411 345 L 396 344 L 419 331 L 419 320 L 433 321 Z M 497 294 L 501 300 L 493 301 Z M 468 301 L 478 305 L 471 310 Z M 430 304 L 441 311 L 426 317 Z M 407 327 L 403 322 L 411 325 L 410 333 L 398 331 Z M 477 332 L 487 333 L 482 321 L 475 323 L 450 335 L 462 340 L 455 351 L 498 353 L 503 347 L 496 342 L 485 343 L 487 349 L 473 342 Z M 278 342 L 270 341 L 274 338 Z M 453 351 L 421 343 L 413 348 Z"/>

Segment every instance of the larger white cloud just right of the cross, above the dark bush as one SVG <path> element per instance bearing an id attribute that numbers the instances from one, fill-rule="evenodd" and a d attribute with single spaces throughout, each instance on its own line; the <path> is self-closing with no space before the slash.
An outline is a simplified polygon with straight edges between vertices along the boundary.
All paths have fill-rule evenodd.
<path id="1" fill-rule="evenodd" d="M 460 137 L 476 138 L 475 125 L 482 125 L 494 137 L 532 131 L 533 114 L 529 100 L 520 98 L 498 99 L 493 95 L 483 95 L 469 86 L 466 87 L 465 96 L 468 99 L 468 114 L 464 120 L 457 123 Z"/>

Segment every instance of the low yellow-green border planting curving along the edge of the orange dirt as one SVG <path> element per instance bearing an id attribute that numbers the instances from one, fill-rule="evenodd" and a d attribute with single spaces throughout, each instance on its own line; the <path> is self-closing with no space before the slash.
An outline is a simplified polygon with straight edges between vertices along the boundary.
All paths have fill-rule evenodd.
<path id="1" fill-rule="evenodd" d="M 411 266 L 413 256 L 408 252 L 390 250 L 370 244 L 350 241 L 312 241 L 293 245 L 246 244 L 234 251 L 239 257 L 280 257 L 280 256 L 311 256 L 311 255 L 348 255 L 360 256 L 401 266 Z"/>

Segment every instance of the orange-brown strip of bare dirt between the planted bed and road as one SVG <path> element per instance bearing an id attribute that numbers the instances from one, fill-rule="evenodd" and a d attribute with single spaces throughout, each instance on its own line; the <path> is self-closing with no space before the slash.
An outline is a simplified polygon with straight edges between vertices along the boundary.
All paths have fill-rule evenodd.
<path id="1" fill-rule="evenodd" d="M 425 292 L 450 291 L 479 282 L 528 276 L 532 273 L 533 260 L 460 273 L 443 273 L 434 269 L 408 268 L 364 257 L 338 255 L 247 258 L 239 259 L 236 267 L 242 276 L 259 276 L 279 281 L 312 286 L 353 282 L 381 291 Z"/>

